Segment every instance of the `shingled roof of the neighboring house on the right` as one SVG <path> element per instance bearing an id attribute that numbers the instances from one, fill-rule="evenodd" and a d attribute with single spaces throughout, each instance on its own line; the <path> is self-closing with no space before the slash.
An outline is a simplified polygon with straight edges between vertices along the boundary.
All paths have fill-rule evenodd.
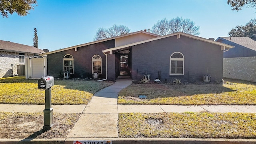
<path id="1" fill-rule="evenodd" d="M 256 40 L 253 38 L 256 37 L 256 34 L 252 35 L 250 38 L 249 37 L 219 37 L 218 39 L 221 40 L 227 40 L 229 42 L 239 44 L 241 46 L 244 46 L 246 48 L 250 48 L 252 50 L 256 51 Z"/>

